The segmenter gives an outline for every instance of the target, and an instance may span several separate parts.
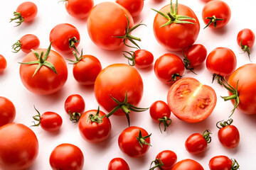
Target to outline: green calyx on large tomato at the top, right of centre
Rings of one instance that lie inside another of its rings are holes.
[[[196,21],[195,18],[191,18],[190,16],[181,16],[178,15],[178,0],[176,0],[176,4],[175,4],[175,9],[172,5],[172,0],[170,3],[171,6],[171,13],[162,13],[161,11],[157,11],[153,8],[151,8],[152,10],[156,11],[157,13],[159,13],[161,16],[164,16],[164,18],[166,18],[168,21],[166,23],[164,23],[164,25],[162,25],[161,27],[164,26],[169,26],[171,23],[190,23],[190,24],[196,24],[190,21],[186,21],[186,20],[192,20],[192,21]]]

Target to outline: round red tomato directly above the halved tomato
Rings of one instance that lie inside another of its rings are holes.
[[[160,56],[154,64],[156,77],[165,84],[174,84],[183,76],[184,64],[180,57],[170,53]]]

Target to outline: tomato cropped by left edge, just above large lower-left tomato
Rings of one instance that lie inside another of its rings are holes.
[[[0,127],[12,123],[16,116],[16,108],[8,98],[0,96]]]

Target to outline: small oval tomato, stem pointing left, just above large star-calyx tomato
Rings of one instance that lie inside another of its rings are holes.
[[[20,50],[23,52],[31,52],[31,49],[36,50],[40,45],[40,41],[36,35],[27,34],[23,35],[20,40],[12,45],[14,52],[19,52]]]

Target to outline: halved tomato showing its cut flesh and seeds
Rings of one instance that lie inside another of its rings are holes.
[[[217,101],[215,91],[197,79],[186,77],[171,86],[167,103],[177,118],[187,123],[198,123],[213,112]]]

